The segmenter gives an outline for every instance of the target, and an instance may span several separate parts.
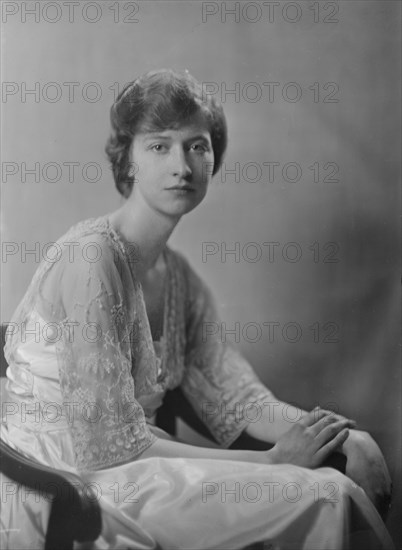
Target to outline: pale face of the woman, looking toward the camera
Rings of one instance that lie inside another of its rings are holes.
[[[131,162],[133,200],[140,194],[150,208],[173,217],[190,212],[205,197],[213,170],[205,121],[195,116],[176,130],[137,133]]]

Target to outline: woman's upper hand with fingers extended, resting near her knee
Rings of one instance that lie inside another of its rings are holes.
[[[274,464],[317,468],[342,446],[355,422],[331,411],[315,408],[294,424],[268,451]],[[271,462],[271,463],[272,463]]]

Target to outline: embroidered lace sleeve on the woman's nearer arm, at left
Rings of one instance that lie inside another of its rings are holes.
[[[122,264],[101,236],[80,239],[80,249],[94,241],[97,260],[78,253],[58,278],[65,312],[57,349],[60,385],[81,470],[135,459],[156,439],[134,397],[133,282],[122,280]]]

